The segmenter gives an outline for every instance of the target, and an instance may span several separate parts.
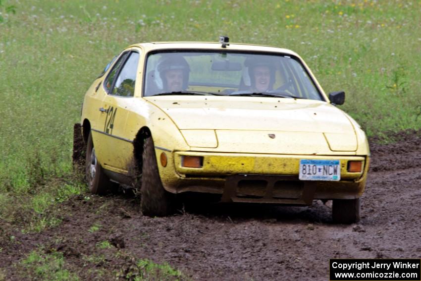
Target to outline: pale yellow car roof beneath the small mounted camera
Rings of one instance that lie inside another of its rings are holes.
[[[153,50],[165,50],[165,49],[194,49],[194,50],[226,50],[226,51],[252,51],[252,52],[271,52],[271,53],[282,53],[291,56],[298,56],[295,52],[277,48],[272,46],[263,46],[263,45],[252,45],[252,44],[239,44],[239,43],[229,43],[225,48],[222,48],[220,43],[216,42],[147,42],[147,43],[138,43],[133,44],[130,47],[141,47],[145,51]]]

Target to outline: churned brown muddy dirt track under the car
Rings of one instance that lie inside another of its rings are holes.
[[[330,202],[205,205],[148,218],[133,196],[77,196],[60,206],[63,221],[57,227],[37,234],[3,230],[15,242],[0,241],[0,267],[7,280],[21,280],[19,260],[42,246],[62,252],[65,268],[81,280],[128,278],[135,260],[150,258],[168,262],[186,280],[325,281],[329,258],[421,258],[419,135],[401,134],[392,145],[371,141],[372,164],[356,225],[333,225]],[[90,232],[94,224],[99,230]],[[105,240],[113,246],[99,248]]]

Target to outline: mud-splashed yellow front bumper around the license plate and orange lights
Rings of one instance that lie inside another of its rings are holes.
[[[157,159],[162,151],[157,149]],[[166,152],[168,153],[168,152]],[[368,156],[274,155],[178,151],[159,167],[161,181],[172,193],[221,194],[225,202],[310,205],[313,199],[359,198],[365,188]],[[182,167],[182,156],[204,157],[202,168]],[[340,181],[298,179],[301,159],[340,160]],[[362,161],[362,172],[348,172],[348,161]]]

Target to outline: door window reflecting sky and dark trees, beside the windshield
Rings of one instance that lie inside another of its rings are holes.
[[[118,74],[114,88],[112,89],[112,95],[133,97],[135,93],[138,62],[139,54],[137,52],[130,53],[129,58],[127,58],[123,68],[121,68],[120,73]]]

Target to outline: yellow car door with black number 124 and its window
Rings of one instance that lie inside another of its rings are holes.
[[[104,98],[99,108],[101,127],[94,138],[98,160],[104,169],[127,173],[133,154],[132,141],[125,138],[127,105],[133,102],[139,51],[128,50],[114,64],[104,80]]]

